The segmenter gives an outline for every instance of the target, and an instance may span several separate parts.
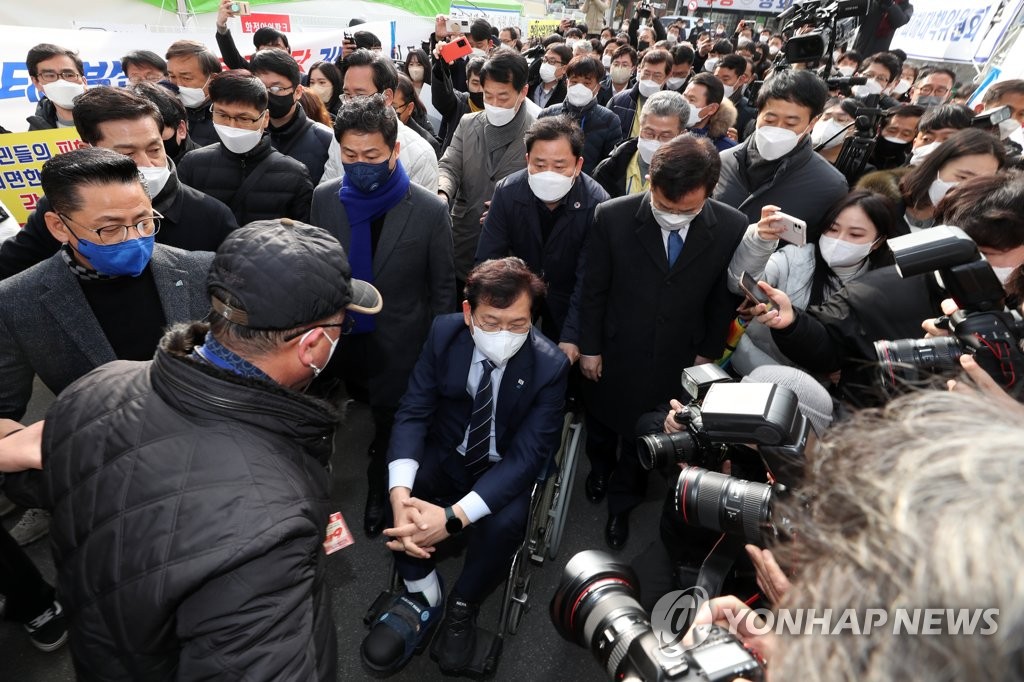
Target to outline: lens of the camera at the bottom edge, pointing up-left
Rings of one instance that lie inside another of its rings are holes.
[[[580,552],[562,571],[551,621],[562,637],[589,648],[613,679],[633,640],[650,632],[638,592],[628,563],[596,550]]]

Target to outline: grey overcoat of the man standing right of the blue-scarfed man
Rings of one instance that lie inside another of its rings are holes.
[[[516,118],[508,124],[517,126],[519,131],[515,134],[515,140],[505,150],[494,175],[487,173],[487,142],[484,137],[487,119],[483,112],[462,117],[452,143],[438,162],[438,189],[447,195],[452,203],[455,268],[460,280],[466,279],[476,258],[483,202],[490,201],[498,180],[526,167],[526,143],[523,135],[534,120],[526,108],[520,106]]]

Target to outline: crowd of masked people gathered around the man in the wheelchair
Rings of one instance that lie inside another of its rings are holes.
[[[40,649],[71,632],[83,679],[334,679],[340,396],[370,406],[362,529],[387,536],[407,588],[362,660],[393,674],[433,637],[463,674],[567,401],[620,551],[647,496],[638,430],[667,413],[678,429],[684,369],[798,368],[822,432],[889,399],[873,343],[922,336],[948,298],[900,276],[889,240],[955,225],[1024,302],[1024,80],[972,110],[971,84],[888,41],[791,62],[810,27],[640,12],[528,40],[438,16],[401,59],[353,26],[336,62],[303,72],[273,29],[244,56],[232,4],[220,55],[135,50],[125,87],[88,83],[74,46],[27,56],[30,129],[85,146],[46,163],[0,246],[0,459],[39,470],[5,481],[5,511],[28,511],[0,528],[0,587]],[[58,397],[23,429],[36,378]],[[468,527],[446,590],[434,548]],[[47,532],[56,589],[22,549]],[[686,554],[669,552],[677,578],[699,566]],[[786,599],[823,599],[808,590]]]

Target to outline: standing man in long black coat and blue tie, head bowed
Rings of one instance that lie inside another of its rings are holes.
[[[681,135],[651,160],[650,191],[598,207],[587,246],[580,366],[588,407],[588,497],[608,495],[605,540],[621,549],[643,501],[636,423],[679,392],[683,369],[721,355],[738,299],[726,287],[746,218],[709,199],[720,160]],[[617,463],[615,445],[621,447]],[[610,476],[610,480],[609,480]]]

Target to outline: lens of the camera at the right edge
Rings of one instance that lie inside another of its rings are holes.
[[[934,339],[876,341],[882,386],[893,391],[901,386],[920,386],[933,375],[952,376],[963,354],[954,336]]]

